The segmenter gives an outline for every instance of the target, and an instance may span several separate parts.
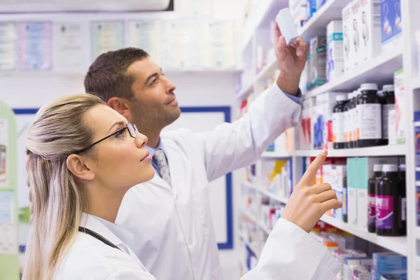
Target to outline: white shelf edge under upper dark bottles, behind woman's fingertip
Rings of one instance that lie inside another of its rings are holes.
[[[295,151],[298,157],[316,157],[321,150]],[[407,145],[392,145],[392,146],[375,146],[367,148],[351,148],[328,150],[328,157],[330,158],[351,158],[351,157],[384,157],[405,155],[407,153]]]

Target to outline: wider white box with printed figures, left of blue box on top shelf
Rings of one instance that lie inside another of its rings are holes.
[[[353,35],[357,38],[358,48],[355,55],[363,64],[381,54],[381,0],[352,1]],[[356,63],[356,66],[358,65]]]

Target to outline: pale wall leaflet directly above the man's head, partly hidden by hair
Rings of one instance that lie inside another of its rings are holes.
[[[162,22],[159,20],[130,20],[129,46],[146,50],[154,62],[161,63],[162,55]]]

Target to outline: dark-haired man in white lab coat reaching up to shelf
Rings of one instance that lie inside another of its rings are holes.
[[[156,279],[223,279],[209,182],[251,165],[300,118],[298,85],[307,45],[302,38],[286,45],[276,28],[274,47],[281,69],[276,83],[255,99],[243,118],[204,133],[181,129],[161,134],[181,113],[176,86],[143,50],[107,52],[90,66],[86,92],[97,92],[148,137],[155,177],[125,195],[116,223],[134,234],[132,249]],[[307,269],[310,279],[319,260],[303,260],[307,263],[302,267],[313,268]]]

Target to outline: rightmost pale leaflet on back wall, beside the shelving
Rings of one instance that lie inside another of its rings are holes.
[[[235,66],[235,34],[231,21],[207,21],[203,24],[204,67]]]

